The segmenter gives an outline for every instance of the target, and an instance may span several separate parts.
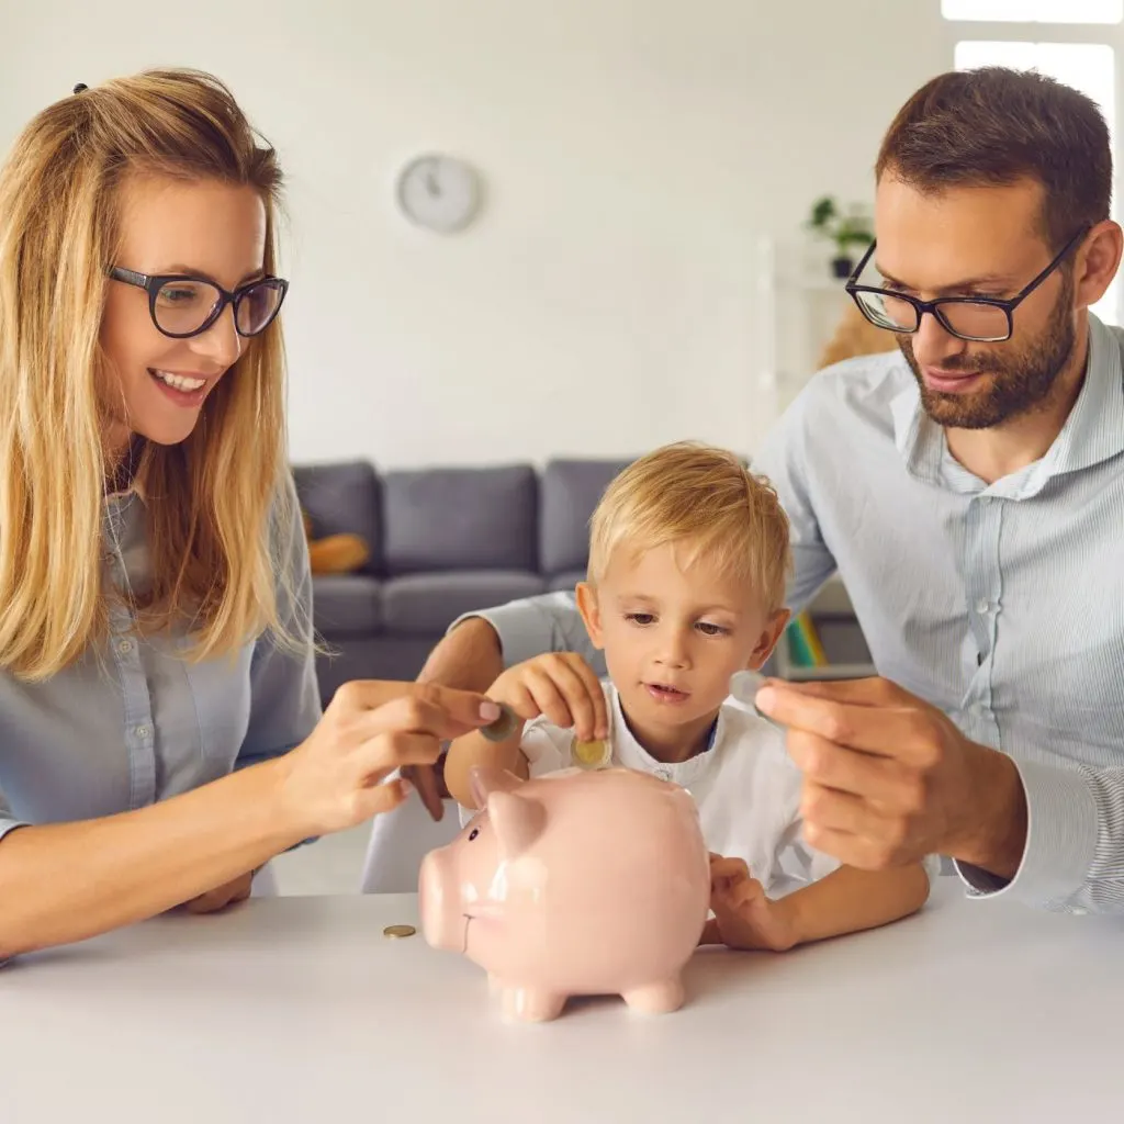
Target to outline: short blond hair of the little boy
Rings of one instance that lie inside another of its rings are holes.
[[[777,492],[733,453],[698,442],[664,445],[634,461],[601,497],[590,523],[589,581],[614,553],[673,544],[689,569],[707,556],[752,584],[769,613],[785,604],[788,518]]]

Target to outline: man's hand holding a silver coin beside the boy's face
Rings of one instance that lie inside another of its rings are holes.
[[[936,707],[885,679],[769,680],[756,706],[788,727],[812,846],[864,870],[946,854],[1014,877],[1026,845],[1014,762]]]

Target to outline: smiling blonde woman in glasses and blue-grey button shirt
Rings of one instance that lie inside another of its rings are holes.
[[[372,682],[320,715],[280,185],[185,71],[76,88],[0,170],[0,958],[238,900],[498,715]]]

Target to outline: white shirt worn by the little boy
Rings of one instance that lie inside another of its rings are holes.
[[[729,703],[718,711],[710,747],[688,761],[665,763],[633,736],[616,688],[605,682],[611,718],[613,763],[652,773],[687,789],[699,809],[710,851],[744,859],[770,897],[818,881],[840,862],[810,847],[800,817],[800,771],[781,731]],[[519,743],[532,777],[571,767],[573,732],[544,717],[527,723]],[[474,812],[461,808],[461,823]]]

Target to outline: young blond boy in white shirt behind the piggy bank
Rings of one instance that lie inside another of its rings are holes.
[[[808,846],[783,735],[726,703],[731,677],[759,669],[788,623],[788,560],[776,493],[734,455],[680,443],[633,463],[593,514],[577,588],[608,682],[570,653],[506,670],[489,697],[526,725],[498,744],[479,733],[452,744],[445,782],[463,818],[473,765],[528,777],[588,761],[591,747],[549,715],[588,714],[604,690],[613,764],[674,781],[698,805],[711,852],[704,943],[781,951],[919,909],[922,865],[861,871]]]

